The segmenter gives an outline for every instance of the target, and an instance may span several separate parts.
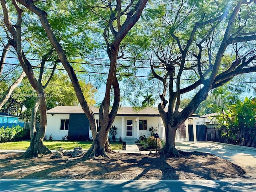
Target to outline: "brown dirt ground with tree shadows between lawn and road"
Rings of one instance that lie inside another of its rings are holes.
[[[1,179],[150,179],[218,180],[244,178],[239,166],[217,156],[186,152],[180,158],[156,155],[109,154],[108,158],[61,159],[53,154],[24,159],[21,153],[0,154]]]

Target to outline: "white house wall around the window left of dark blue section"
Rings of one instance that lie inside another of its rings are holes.
[[[63,136],[68,135],[68,130],[60,130],[60,120],[69,119],[69,114],[47,114],[46,135],[53,136],[53,140],[62,140]]]

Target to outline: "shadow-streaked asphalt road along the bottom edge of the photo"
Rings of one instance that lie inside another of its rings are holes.
[[[0,192],[254,192],[256,179],[0,180]]]

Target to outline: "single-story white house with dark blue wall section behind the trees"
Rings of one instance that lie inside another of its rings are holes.
[[[91,107],[91,109],[98,122],[99,108]],[[193,118],[196,117],[199,116],[194,115]],[[151,126],[158,128],[160,138],[165,135],[165,132],[161,129],[162,119],[158,108],[146,107],[137,111],[133,110],[132,107],[121,107],[117,112],[113,126],[118,128],[117,140],[119,137],[138,139],[142,134],[150,136],[149,128]],[[46,135],[49,136],[51,134],[54,140],[61,140],[67,135],[74,140],[92,137],[89,120],[81,106],[57,106],[48,110]]]

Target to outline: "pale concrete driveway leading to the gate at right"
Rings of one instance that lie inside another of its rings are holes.
[[[214,154],[240,166],[246,171],[245,176],[256,178],[256,148],[216,142],[176,142],[176,148]]]

